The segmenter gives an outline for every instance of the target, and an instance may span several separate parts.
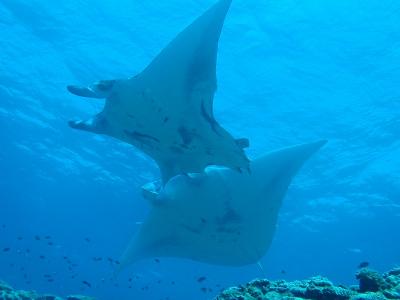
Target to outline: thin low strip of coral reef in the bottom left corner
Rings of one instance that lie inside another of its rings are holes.
[[[68,296],[61,298],[53,295],[39,295],[35,291],[14,290],[5,282],[0,281],[0,300],[94,300],[87,296]]]

